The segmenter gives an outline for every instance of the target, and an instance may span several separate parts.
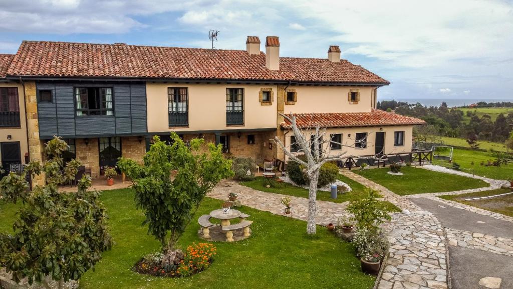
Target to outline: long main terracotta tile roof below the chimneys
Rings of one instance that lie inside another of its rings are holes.
[[[389,83],[347,60],[280,58],[270,70],[264,53],[246,50],[47,41],[22,42],[7,75]]]

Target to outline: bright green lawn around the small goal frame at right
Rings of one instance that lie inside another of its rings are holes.
[[[481,166],[481,161],[486,163],[488,160],[495,160],[495,156],[488,152],[454,149],[452,159],[460,164],[462,168],[470,169],[464,170],[468,173],[472,173],[473,170],[473,173],[484,177],[495,179],[513,178],[513,164],[501,165],[500,167]],[[443,163],[448,165],[446,161],[443,161]]]

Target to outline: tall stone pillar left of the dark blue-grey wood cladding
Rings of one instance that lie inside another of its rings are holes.
[[[37,119],[37,100],[35,82],[25,83],[25,104],[27,106],[27,130],[29,143],[29,157],[31,160],[43,161],[43,141],[39,139],[39,120]],[[32,179],[32,185],[44,185],[45,176],[42,173]]]

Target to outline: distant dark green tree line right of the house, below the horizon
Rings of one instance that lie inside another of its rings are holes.
[[[490,103],[480,102],[483,105]],[[511,102],[501,102],[501,105]],[[508,115],[499,114],[495,121],[487,114],[479,117],[475,112],[467,111],[466,116],[470,118],[468,123],[464,122],[465,114],[461,110],[449,109],[447,103],[442,102],[440,106],[422,105],[421,103],[409,104],[406,102],[397,102],[395,100],[383,100],[378,102],[378,109],[384,111],[394,111],[397,114],[417,117],[425,120],[435,128],[440,136],[473,138],[477,136],[479,140],[505,141],[511,132],[510,124],[513,123],[513,113]],[[489,106],[482,106],[489,107]]]

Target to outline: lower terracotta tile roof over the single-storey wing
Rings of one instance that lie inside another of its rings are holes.
[[[299,127],[320,127],[343,128],[343,127],[373,127],[401,124],[424,124],[422,119],[388,113],[381,110],[371,110],[369,113],[313,113],[294,114]],[[291,116],[290,114],[288,115]],[[282,128],[290,128],[290,122],[285,120],[281,123]]]

